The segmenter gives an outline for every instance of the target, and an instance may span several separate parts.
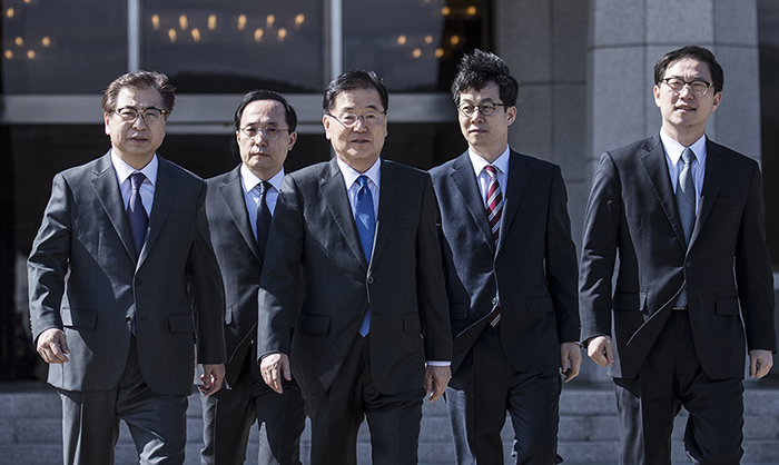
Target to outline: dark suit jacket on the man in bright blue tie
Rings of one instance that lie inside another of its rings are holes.
[[[287,175],[259,291],[258,354],[289,354],[303,389],[325,393],[371,305],[371,367],[379,392],[424,386],[425,360],[450,360],[436,202],[430,176],[382,161],[376,240],[365,261],[336,159]],[[303,267],[307,293],[289,343]]]

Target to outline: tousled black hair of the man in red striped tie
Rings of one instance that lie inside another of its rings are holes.
[[[479,91],[490,82],[497,85],[504,108],[516,106],[520,83],[511,73],[509,66],[495,53],[474,49],[473,52],[466,53],[457,66],[457,76],[452,81],[454,103],[460,105],[460,95],[466,90]]]

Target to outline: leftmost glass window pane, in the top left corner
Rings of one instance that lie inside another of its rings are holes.
[[[99,93],[127,70],[127,4],[2,2],[2,91]]]

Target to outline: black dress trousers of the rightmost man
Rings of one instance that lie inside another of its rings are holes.
[[[684,452],[692,463],[738,465],[743,455],[742,379],[703,373],[688,311],[673,310],[635,378],[614,378],[622,465],[670,465],[681,407],[690,413]]]

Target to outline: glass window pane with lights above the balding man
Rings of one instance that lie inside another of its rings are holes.
[[[322,0],[147,0],[144,69],[178,92],[321,92],[325,83]]]

